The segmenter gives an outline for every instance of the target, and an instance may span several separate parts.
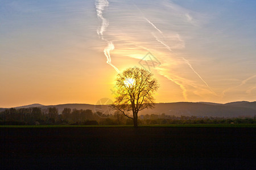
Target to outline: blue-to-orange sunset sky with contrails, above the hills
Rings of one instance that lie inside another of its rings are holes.
[[[114,100],[143,67],[157,103],[256,100],[256,1],[0,0],[0,107]]]

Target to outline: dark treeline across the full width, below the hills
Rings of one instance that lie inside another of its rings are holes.
[[[256,124],[254,118],[220,118],[196,116],[170,116],[166,114],[146,114],[139,116],[139,125],[164,124]],[[0,113],[0,125],[133,125],[133,120],[116,111],[105,115],[90,109],[64,108],[63,112],[55,107],[42,109],[10,108]]]

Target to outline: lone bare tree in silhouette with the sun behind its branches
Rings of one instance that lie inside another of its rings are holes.
[[[115,85],[118,90],[113,109],[121,111],[133,120],[134,127],[138,127],[138,112],[154,108],[153,94],[159,88],[157,80],[147,70],[129,68],[117,75]],[[129,116],[130,111],[133,116]]]

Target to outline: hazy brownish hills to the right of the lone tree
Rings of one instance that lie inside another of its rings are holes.
[[[204,103],[159,103],[155,109],[146,109],[141,114],[171,114],[175,116],[212,116],[212,117],[253,117],[256,114],[256,102],[246,104],[204,104]]]

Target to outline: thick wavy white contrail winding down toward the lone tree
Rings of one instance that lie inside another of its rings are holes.
[[[109,2],[107,0],[96,0],[95,6],[96,6],[97,17],[98,17],[98,19],[101,19],[101,21],[102,21],[101,26],[97,28],[97,34],[98,34],[98,36],[100,36],[100,38],[102,40],[104,40],[108,43],[108,46],[106,46],[106,48],[104,49],[104,54],[105,54],[106,58],[108,59],[106,61],[106,63],[108,63],[110,66],[112,66],[115,69],[115,71],[117,71],[117,73],[119,73],[119,70],[117,69],[117,67],[115,67],[111,63],[111,57],[110,57],[110,51],[114,50],[115,46],[112,41],[108,41],[108,40],[104,39],[104,37],[103,37],[103,33],[106,31],[106,28],[109,26],[109,22],[102,16],[102,11],[104,11],[105,7],[109,6]]]

